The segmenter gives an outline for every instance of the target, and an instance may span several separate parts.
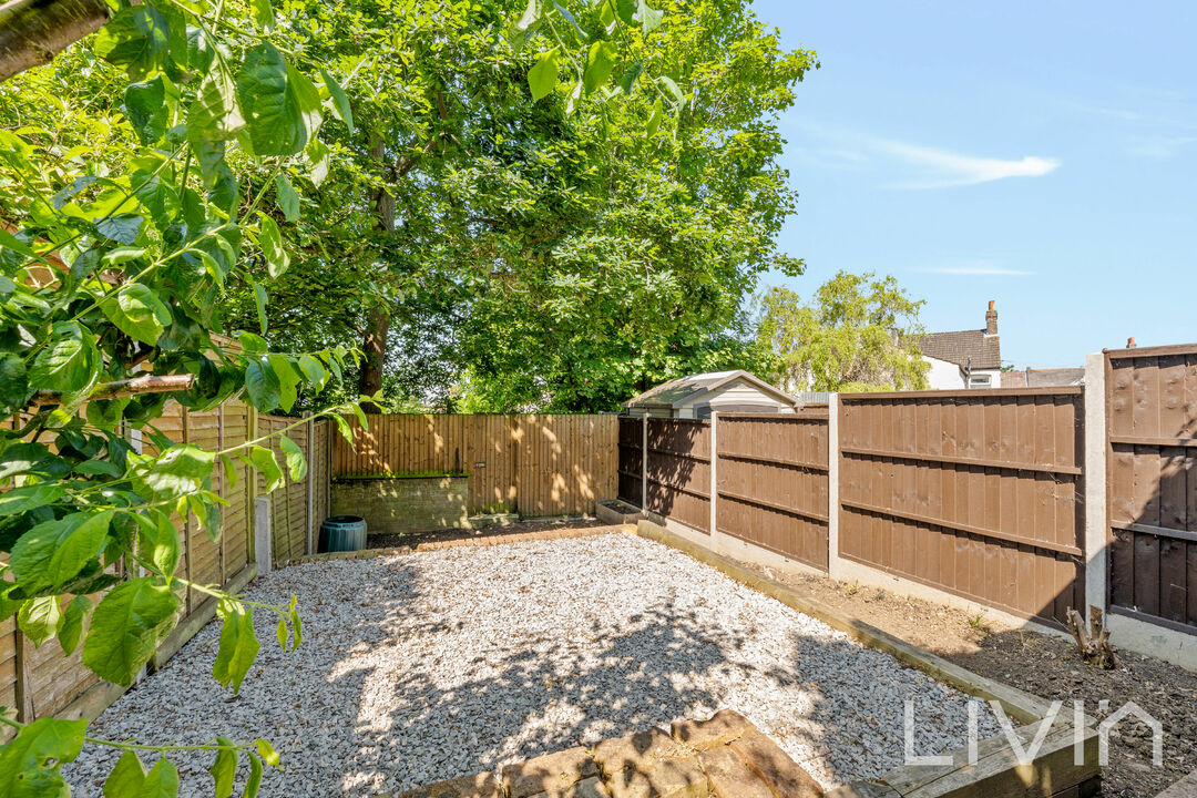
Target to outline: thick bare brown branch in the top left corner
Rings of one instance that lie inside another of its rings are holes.
[[[43,63],[108,22],[104,0],[0,2],[0,83]]]

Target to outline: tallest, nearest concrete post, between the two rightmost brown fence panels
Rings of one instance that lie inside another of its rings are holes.
[[[1084,605],[1105,613],[1110,519],[1106,508],[1106,355],[1084,358]]]

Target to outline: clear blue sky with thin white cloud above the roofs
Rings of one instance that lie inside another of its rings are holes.
[[[931,331],[994,299],[1020,368],[1197,341],[1197,4],[754,8],[822,62],[780,126],[807,273],[767,284],[889,273]]]

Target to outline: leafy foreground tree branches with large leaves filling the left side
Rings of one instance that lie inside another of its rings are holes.
[[[468,7],[493,19],[503,8]],[[646,8],[640,2],[636,13]],[[96,28],[45,69],[20,72]],[[284,648],[302,638],[293,598],[254,604],[181,578],[172,522],[192,517],[219,537],[211,480],[232,458],[268,489],[303,479],[306,464],[287,430],[275,433],[280,463],[263,439],[207,451],[176,444],[154,420],[169,400],[207,410],[243,396],[261,412],[290,412],[300,391],[320,394],[354,360],[342,345],[282,351],[263,337],[268,286],[298,249],[318,249],[329,226],[299,226],[309,185],[344,163],[367,197],[365,212],[348,208],[361,230],[381,226],[385,238],[395,226],[385,224],[389,184],[324,141],[329,127],[352,135],[354,111],[369,118],[371,109],[354,109],[333,73],[304,60],[305,32],[311,28],[288,25],[284,35],[269,0],[18,0],[0,10],[0,416],[11,419],[0,426],[0,620],[16,616],[35,645],[81,645],[83,663],[114,683],[132,683],[174,628],[184,587],[218,599],[224,626],[213,676],[233,690],[257,652],[255,610],[277,615]],[[492,33],[484,26],[478,35]],[[511,68],[527,79],[536,61],[529,54]],[[402,69],[385,83],[391,77],[356,67],[344,75],[350,86],[377,78],[379,95],[419,85]],[[600,90],[602,78],[589,89]],[[382,136],[371,150],[377,169],[401,171]],[[377,261],[375,250],[358,263]],[[233,285],[253,307],[242,327],[225,321]],[[366,422],[356,401],[322,413],[346,435],[344,415]],[[86,596],[95,593],[103,597],[92,605]],[[68,794],[61,766],[84,742],[124,751],[105,796],[177,793],[170,747],[86,737],[85,720],[22,724],[0,713],[0,724],[16,730],[0,747],[0,796]],[[263,765],[279,765],[265,739],[192,748],[213,751],[223,797],[238,761],[248,765],[250,797]],[[148,773],[145,753],[158,755]]]

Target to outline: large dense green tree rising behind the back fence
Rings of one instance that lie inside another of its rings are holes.
[[[305,195],[272,342],[365,349],[382,306],[377,384],[443,410],[612,409],[679,373],[754,367],[743,301],[765,269],[801,269],[773,243],[795,202],[776,118],[814,56],[741,0],[667,5],[687,24],[655,30],[616,5],[626,20],[542,4],[519,32],[492,4],[424,4],[401,36],[370,4],[288,6],[358,128],[321,132],[344,157]],[[508,47],[510,28],[541,54]],[[397,44],[363,59],[346,39]],[[529,69],[546,63],[541,95]]]

